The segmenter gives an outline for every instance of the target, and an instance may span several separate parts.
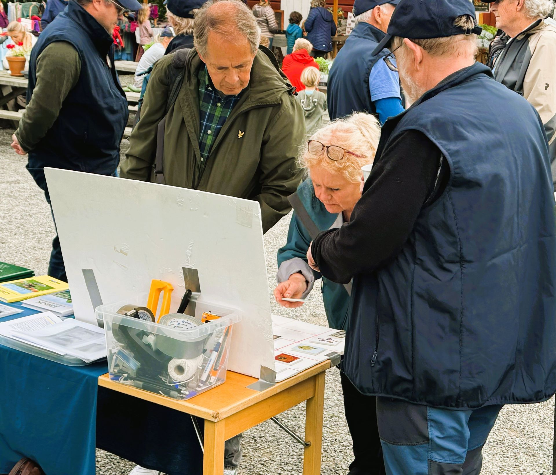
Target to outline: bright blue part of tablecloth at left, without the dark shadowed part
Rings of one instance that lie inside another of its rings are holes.
[[[106,372],[106,361],[70,367],[0,345],[0,473],[25,456],[48,475],[95,475],[98,377]]]

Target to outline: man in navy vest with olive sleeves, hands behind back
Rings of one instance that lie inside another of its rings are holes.
[[[27,169],[50,197],[44,167],[116,173],[127,123],[127,100],[114,67],[112,31],[136,0],[70,0],[33,47],[27,107],[12,148],[29,154]],[[58,236],[51,277],[67,281]]]

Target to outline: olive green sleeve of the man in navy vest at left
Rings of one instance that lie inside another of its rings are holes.
[[[80,73],[81,59],[68,42],[53,42],[39,54],[33,96],[16,131],[24,151],[32,150],[46,136],[58,117],[64,99],[77,84]]]

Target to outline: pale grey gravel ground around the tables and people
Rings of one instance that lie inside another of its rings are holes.
[[[41,275],[47,270],[54,227],[42,192],[24,169],[26,158],[9,148],[11,134],[0,129],[0,261],[21,264]],[[286,217],[265,236],[270,290],[275,282],[276,251],[285,242],[288,224],[289,217]],[[326,324],[319,292],[312,293],[302,311],[284,309],[272,301],[272,312]],[[542,404],[505,407],[484,450],[483,475],[549,475],[553,415],[554,399]],[[281,419],[302,434],[304,405],[285,412]],[[353,456],[350,442],[339,373],[331,369],[326,375],[322,474],[347,473]],[[247,431],[243,447],[241,475],[302,473],[302,447],[271,422]],[[132,462],[97,451],[97,474],[125,475],[133,466]]]

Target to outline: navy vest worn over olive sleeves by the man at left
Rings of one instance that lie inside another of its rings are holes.
[[[112,37],[85,9],[69,2],[33,47],[27,102],[37,81],[37,58],[54,41],[75,47],[81,74],[54,124],[29,152],[28,167],[112,174],[120,161],[120,142],[128,117],[126,96],[114,67]]]

